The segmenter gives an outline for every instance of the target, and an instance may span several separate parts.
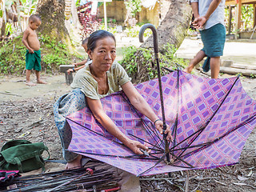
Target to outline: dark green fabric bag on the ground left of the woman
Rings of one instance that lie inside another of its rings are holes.
[[[42,152],[46,150],[48,158],[50,154],[43,142],[31,143],[26,140],[12,140],[2,146],[0,152],[0,170],[19,170],[21,173],[30,170],[45,170],[45,160]]]

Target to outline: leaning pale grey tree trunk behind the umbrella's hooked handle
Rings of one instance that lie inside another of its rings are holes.
[[[178,48],[190,26],[192,10],[187,0],[170,0],[170,8],[166,17],[158,26],[159,51],[164,53],[164,46],[169,42]],[[152,35],[142,44],[141,47],[153,47]]]

